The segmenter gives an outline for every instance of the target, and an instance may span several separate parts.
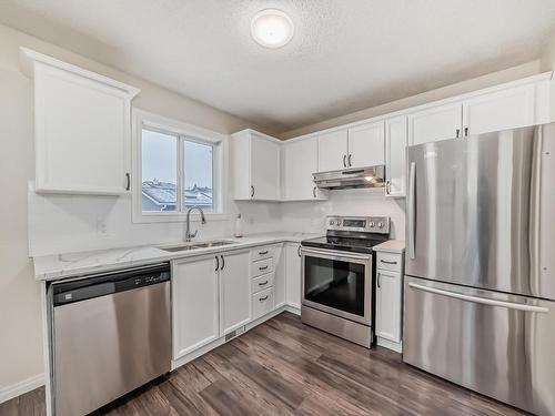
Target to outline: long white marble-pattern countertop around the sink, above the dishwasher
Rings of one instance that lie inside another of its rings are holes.
[[[198,248],[182,252],[167,252],[159,247],[184,244],[175,242],[173,244],[160,244],[138,247],[111,248],[92,252],[52,254],[33,257],[34,277],[37,281],[54,281],[65,277],[81,276],[85,274],[102,273],[168,262],[174,258],[200,256],[210,253],[220,253],[231,250],[254,247],[264,244],[276,244],[284,242],[300,243],[301,240],[317,237],[319,234],[274,232],[263,234],[250,234],[241,239],[223,237],[214,240],[233,241],[235,244]],[[202,243],[193,242],[193,243]]]

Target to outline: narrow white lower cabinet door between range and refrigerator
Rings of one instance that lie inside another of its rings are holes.
[[[401,288],[400,273],[376,272],[376,335],[401,342]]]

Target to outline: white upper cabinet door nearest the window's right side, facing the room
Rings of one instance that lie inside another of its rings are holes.
[[[278,201],[280,189],[280,144],[251,133],[251,199]]]

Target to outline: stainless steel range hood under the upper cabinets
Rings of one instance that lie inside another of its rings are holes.
[[[317,187],[324,190],[345,190],[353,187],[383,187],[385,185],[385,166],[345,169],[333,172],[312,174]]]

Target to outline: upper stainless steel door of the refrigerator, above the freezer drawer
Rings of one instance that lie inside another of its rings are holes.
[[[555,300],[555,124],[411,146],[406,274]]]

